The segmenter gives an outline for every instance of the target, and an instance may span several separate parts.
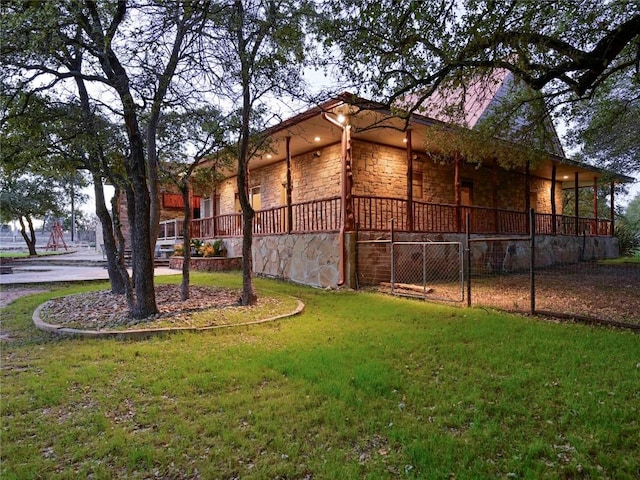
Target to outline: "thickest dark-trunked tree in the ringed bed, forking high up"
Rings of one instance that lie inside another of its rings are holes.
[[[91,82],[96,88],[94,104],[103,104],[115,114],[126,132],[122,189],[131,227],[135,296],[130,296],[130,313],[134,318],[157,312],[155,139],[167,102],[187,102],[190,95],[185,92],[197,91],[187,60],[207,12],[201,6],[134,0],[3,3],[2,30],[8,35],[2,56],[3,64],[11,67],[5,75],[24,91],[54,88],[73,79]],[[86,63],[78,64],[79,58]],[[178,81],[181,74],[182,83]],[[180,83],[190,89],[181,90]]]

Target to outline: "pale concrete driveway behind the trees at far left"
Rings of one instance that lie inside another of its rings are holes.
[[[88,249],[46,257],[15,259],[10,264],[13,273],[0,275],[0,285],[108,280],[109,275],[104,265],[102,254]],[[155,276],[178,274],[179,270],[167,267],[155,269]]]

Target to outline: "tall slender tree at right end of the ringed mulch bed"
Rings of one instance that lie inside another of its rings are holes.
[[[208,24],[208,70],[220,85],[219,94],[237,105],[233,127],[238,173],[238,199],[243,214],[243,305],[257,301],[253,287],[253,218],[249,199],[249,160],[268,148],[256,132],[266,126],[269,100],[299,95],[306,60],[306,21],[313,5],[305,0],[234,0],[221,3]],[[266,121],[265,121],[266,120]]]

